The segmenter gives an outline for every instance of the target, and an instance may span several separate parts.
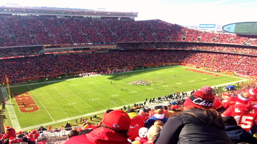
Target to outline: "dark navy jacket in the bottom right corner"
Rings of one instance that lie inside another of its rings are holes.
[[[257,140],[249,132],[238,125],[225,126],[225,131],[228,137],[231,139],[232,143],[257,143]]]

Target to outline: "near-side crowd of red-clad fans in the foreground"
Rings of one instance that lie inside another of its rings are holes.
[[[70,121],[64,128],[49,129],[40,127],[26,132],[16,132],[6,127],[6,133],[0,135],[2,143],[27,142],[46,143],[43,131],[69,131],[65,144],[163,144],[163,143],[257,143],[257,82],[242,83],[242,88],[224,92],[222,99],[216,102],[217,90],[204,86],[194,90],[180,104],[155,106],[140,109],[138,113],[126,107],[121,110],[108,109],[99,124],[93,124],[80,118],[81,127],[72,129]],[[233,94],[233,95],[232,95]],[[173,95],[173,94],[172,94]],[[170,96],[172,96],[170,95]],[[175,95],[175,94],[174,94]],[[184,96],[185,93],[182,94]],[[166,96],[169,97],[170,96]],[[177,93],[180,96],[180,93]],[[164,99],[166,98],[164,97]],[[157,98],[157,99],[162,99]],[[240,111],[234,111],[239,109]],[[95,115],[95,118],[100,119]],[[247,117],[247,119],[245,119]],[[252,118],[250,118],[252,117]],[[92,117],[90,117],[92,120]],[[77,119],[76,119],[76,123]]]

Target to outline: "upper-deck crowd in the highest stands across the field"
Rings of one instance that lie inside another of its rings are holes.
[[[256,37],[202,32],[154,20],[0,16],[0,46],[94,42],[187,41],[244,44]],[[185,37],[185,39],[182,39]]]

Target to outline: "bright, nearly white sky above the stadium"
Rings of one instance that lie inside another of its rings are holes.
[[[138,12],[135,20],[161,19],[184,26],[255,22],[256,0],[1,0],[0,5],[48,6]]]

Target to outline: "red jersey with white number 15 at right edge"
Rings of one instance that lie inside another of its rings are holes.
[[[250,104],[243,105],[237,102],[224,111],[222,116],[233,116],[237,124],[249,132],[253,124],[257,123],[257,108]]]

